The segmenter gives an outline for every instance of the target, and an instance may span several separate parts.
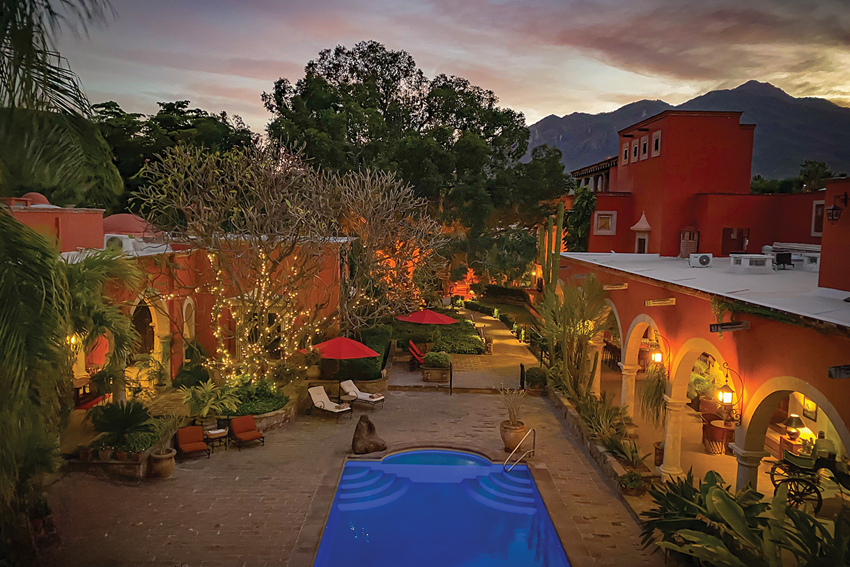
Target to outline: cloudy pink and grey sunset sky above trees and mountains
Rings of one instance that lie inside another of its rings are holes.
[[[269,120],[260,94],[323,48],[376,39],[460,75],[527,122],[638,99],[678,104],[750,79],[850,105],[846,0],[112,0],[59,49],[93,102],[189,99]]]

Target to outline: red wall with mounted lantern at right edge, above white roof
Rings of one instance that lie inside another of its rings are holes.
[[[836,201],[837,196],[844,195],[850,196],[850,178],[831,179],[826,184],[825,206],[836,205],[843,210],[838,222],[824,220],[819,286],[850,292],[850,202],[844,205]]]

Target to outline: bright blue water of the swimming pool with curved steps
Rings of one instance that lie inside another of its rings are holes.
[[[461,451],[350,462],[315,567],[569,567],[524,465]]]

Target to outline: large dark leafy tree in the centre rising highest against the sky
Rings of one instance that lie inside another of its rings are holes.
[[[263,94],[274,115],[269,139],[303,146],[334,171],[397,173],[451,228],[457,261],[485,276],[517,271],[491,259],[504,231],[536,224],[548,213],[540,203],[570,188],[558,150],[540,147],[519,161],[529,138],[521,113],[462,77],[429,80],[410,54],[374,41],[326,49],[304,72]],[[534,258],[525,244],[513,249],[521,268]]]

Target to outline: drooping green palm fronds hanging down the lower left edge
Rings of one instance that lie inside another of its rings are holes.
[[[67,305],[59,255],[0,211],[0,535],[22,549],[31,481],[54,468],[71,389]]]

